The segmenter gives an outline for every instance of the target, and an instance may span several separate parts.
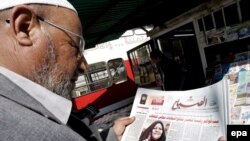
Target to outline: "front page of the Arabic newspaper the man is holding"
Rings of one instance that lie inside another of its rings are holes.
[[[131,111],[136,120],[122,141],[218,141],[226,134],[225,80],[188,91],[138,88]]]

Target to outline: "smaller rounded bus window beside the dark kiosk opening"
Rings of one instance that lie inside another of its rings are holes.
[[[109,60],[108,69],[113,83],[120,84],[127,81],[127,71],[122,58]]]

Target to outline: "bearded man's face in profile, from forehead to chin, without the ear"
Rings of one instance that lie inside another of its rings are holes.
[[[65,20],[62,15],[70,19]],[[81,33],[80,21],[71,10],[60,10],[58,18],[55,16],[48,20],[74,33]],[[42,61],[34,67],[34,81],[63,97],[70,98],[78,67],[83,63],[83,57],[76,47],[80,39],[46,23],[43,23],[43,26],[47,42],[42,51]]]

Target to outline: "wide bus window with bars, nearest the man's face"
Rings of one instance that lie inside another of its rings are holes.
[[[111,76],[108,72],[106,62],[102,61],[89,64],[88,70],[78,77],[72,97],[76,98],[100,89],[108,88],[111,84]]]

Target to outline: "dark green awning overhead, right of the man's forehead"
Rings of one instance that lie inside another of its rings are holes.
[[[125,31],[164,22],[209,0],[69,0],[79,13],[86,49]]]

